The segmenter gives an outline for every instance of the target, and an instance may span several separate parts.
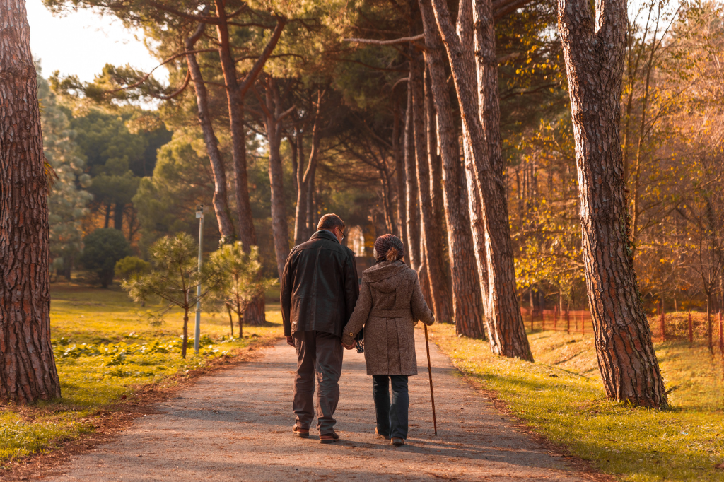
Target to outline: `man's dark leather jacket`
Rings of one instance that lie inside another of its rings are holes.
[[[329,231],[296,246],[282,275],[284,334],[324,331],[342,336],[359,296],[355,255]]]

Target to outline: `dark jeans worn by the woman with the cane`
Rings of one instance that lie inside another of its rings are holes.
[[[392,382],[392,403],[390,403]],[[407,375],[373,375],[372,396],[377,412],[377,431],[380,435],[407,439],[408,395]]]

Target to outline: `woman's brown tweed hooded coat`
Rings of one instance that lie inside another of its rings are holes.
[[[417,321],[435,321],[427,307],[417,273],[402,261],[377,263],[362,274],[355,310],[342,329],[342,343],[364,326],[364,358],[368,375],[417,375]]]

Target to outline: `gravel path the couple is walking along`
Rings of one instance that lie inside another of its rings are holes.
[[[410,378],[408,445],[374,435],[371,378],[363,355],[345,350],[337,408],[341,441],[292,435],[294,350],[284,342],[256,361],[198,380],[159,413],[139,418],[117,439],[72,457],[51,481],[587,481],[549,454],[460,379],[432,350],[438,436],[432,430],[425,342]]]

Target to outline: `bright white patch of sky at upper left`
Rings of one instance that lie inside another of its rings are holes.
[[[106,63],[131,64],[146,72],[159,64],[143,45],[143,33],[126,30],[113,17],[88,10],[54,16],[42,0],[27,0],[26,4],[30,50],[41,60],[43,77],[59,70],[62,75],[90,81]],[[166,74],[163,68],[153,72],[159,80],[165,80]]]

